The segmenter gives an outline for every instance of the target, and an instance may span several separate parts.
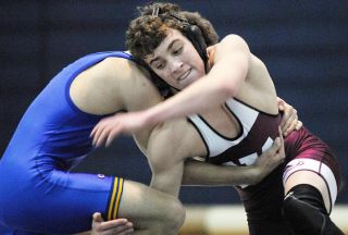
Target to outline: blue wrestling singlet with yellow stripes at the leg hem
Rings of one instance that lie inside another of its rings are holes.
[[[90,230],[94,212],[117,217],[123,178],[70,173],[92,150],[89,134],[102,115],[70,97],[74,78],[109,57],[86,55],[62,70],[22,118],[0,161],[0,234],[72,234]]]

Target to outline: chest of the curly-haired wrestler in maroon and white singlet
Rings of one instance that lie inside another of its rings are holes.
[[[207,146],[207,161],[252,164],[278,135],[281,115],[263,113],[235,100],[229,100],[226,107],[227,112],[220,112],[217,120],[210,113],[190,118]]]

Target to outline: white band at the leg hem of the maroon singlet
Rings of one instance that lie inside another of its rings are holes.
[[[337,182],[332,170],[325,163],[314,159],[294,159],[286,164],[286,170],[283,173],[283,184],[285,185],[288,177],[298,171],[315,172],[325,181],[330,194],[331,210],[337,197]]]

